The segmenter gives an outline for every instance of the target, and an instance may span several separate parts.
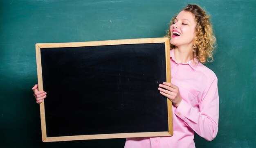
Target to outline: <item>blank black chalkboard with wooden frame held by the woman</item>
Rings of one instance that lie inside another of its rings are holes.
[[[171,136],[169,39],[36,44],[43,141]]]

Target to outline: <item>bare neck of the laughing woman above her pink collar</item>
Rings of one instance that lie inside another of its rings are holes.
[[[193,59],[193,49],[192,48],[182,48],[175,46],[174,48],[175,60],[179,63],[188,63]]]

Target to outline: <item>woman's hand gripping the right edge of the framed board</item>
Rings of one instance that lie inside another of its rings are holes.
[[[172,83],[164,82],[163,84],[159,84],[158,90],[160,91],[160,94],[169,98],[173,102],[173,105],[176,107],[179,106],[182,100],[180,97],[179,87],[173,85]]]

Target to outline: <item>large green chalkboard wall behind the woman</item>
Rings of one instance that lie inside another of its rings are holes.
[[[171,17],[197,3],[211,14],[218,49],[208,63],[218,76],[216,139],[197,148],[256,146],[255,0],[0,0],[0,147],[122,148],[125,139],[43,143],[36,43],[162,37]]]

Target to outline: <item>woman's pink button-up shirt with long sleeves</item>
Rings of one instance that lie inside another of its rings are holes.
[[[125,148],[195,148],[194,131],[207,140],[218,132],[217,77],[197,60],[175,61],[171,55],[171,81],[179,87],[182,101],[173,109],[173,136],[127,138]]]

